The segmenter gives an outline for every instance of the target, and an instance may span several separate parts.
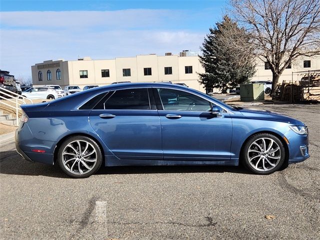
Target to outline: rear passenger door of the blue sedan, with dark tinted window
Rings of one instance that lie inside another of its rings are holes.
[[[160,119],[149,92],[151,88],[109,92],[90,112],[93,130],[120,159],[163,159]]]

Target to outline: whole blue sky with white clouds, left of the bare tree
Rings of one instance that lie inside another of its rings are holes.
[[[198,50],[226,0],[1,0],[0,68],[78,56],[108,59]]]

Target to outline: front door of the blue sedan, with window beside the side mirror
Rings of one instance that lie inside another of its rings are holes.
[[[171,88],[153,90],[162,129],[164,160],[229,160],[229,113],[213,114],[212,102]]]

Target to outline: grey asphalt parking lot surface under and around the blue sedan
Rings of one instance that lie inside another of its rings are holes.
[[[2,147],[0,237],[318,239],[320,104],[254,108],[304,121],[311,157],[265,176],[242,167],[155,166],[71,179],[57,166],[22,160],[14,144]]]

